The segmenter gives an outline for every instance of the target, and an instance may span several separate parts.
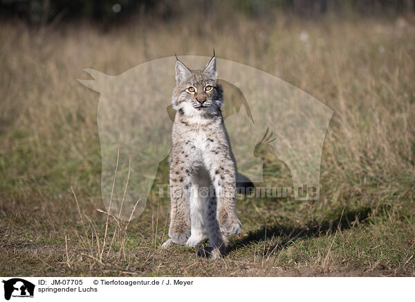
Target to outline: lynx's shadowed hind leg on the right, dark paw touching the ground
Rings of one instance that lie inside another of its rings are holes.
[[[205,204],[206,224],[209,232],[209,247],[203,247],[197,251],[196,255],[206,258],[221,258],[226,252],[228,238],[221,233],[219,222],[216,218],[216,198],[210,198],[210,202]]]

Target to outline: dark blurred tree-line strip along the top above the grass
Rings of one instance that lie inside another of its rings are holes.
[[[234,15],[262,19],[273,17],[276,12],[302,18],[355,14],[393,16],[414,12],[414,4],[413,0],[2,0],[1,13],[3,17],[12,15],[31,24],[48,24],[57,19],[87,19],[109,26],[149,16],[167,21],[195,14],[217,20]]]

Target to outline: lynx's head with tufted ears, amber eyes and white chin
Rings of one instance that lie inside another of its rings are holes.
[[[222,86],[216,72],[216,57],[203,69],[190,70],[177,59],[173,108],[186,116],[216,115],[223,106]]]

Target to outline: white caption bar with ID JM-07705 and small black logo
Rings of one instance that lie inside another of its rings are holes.
[[[10,301],[409,301],[414,278],[0,277]],[[409,298],[409,300],[408,300]],[[127,300],[124,300],[127,301]]]

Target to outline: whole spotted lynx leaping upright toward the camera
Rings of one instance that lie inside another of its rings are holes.
[[[190,70],[176,57],[176,110],[170,152],[172,243],[196,247],[209,238],[210,247],[198,256],[221,257],[230,234],[239,233],[237,166],[223,123],[223,89],[216,72],[216,57],[203,69]]]

